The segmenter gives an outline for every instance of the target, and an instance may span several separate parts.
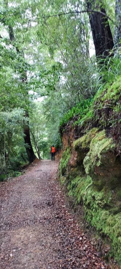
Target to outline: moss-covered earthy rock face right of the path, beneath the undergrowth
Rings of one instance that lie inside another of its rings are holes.
[[[83,204],[86,220],[109,238],[110,255],[121,265],[121,160],[116,143],[106,128],[100,127],[85,131],[77,140],[69,136],[68,132],[63,139],[61,183],[76,203]]]

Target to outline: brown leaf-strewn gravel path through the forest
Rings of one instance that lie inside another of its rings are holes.
[[[0,184],[0,268],[109,268],[69,213],[58,162],[34,162]]]

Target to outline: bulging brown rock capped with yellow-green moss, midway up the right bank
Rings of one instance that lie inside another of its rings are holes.
[[[99,189],[107,184],[114,189],[117,184],[121,184],[121,162],[114,149],[113,140],[106,137],[103,130],[91,140],[90,150],[83,161],[86,174],[92,177],[94,185]]]

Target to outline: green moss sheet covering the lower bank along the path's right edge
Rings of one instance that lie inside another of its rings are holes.
[[[100,234],[110,238],[111,255],[121,264],[121,208],[118,213],[111,213],[114,208],[112,192],[105,188],[97,191],[90,176],[78,175],[68,183],[68,195],[75,197],[76,203],[83,201],[86,220]]]

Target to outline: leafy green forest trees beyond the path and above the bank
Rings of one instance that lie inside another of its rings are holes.
[[[80,125],[95,94],[120,75],[121,15],[120,1],[115,15],[115,1],[108,0],[4,0],[0,5],[4,179],[36,157],[49,158],[52,143],[61,149],[59,128],[74,116]]]

